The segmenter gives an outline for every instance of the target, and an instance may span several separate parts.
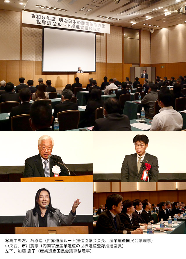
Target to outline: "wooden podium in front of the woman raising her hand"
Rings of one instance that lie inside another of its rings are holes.
[[[15,228],[15,234],[88,234],[88,226]]]

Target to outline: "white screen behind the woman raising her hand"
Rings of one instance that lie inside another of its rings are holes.
[[[27,210],[35,205],[35,194],[41,189],[49,190],[52,207],[60,209],[60,212],[68,215],[77,198],[81,204],[77,208],[77,215],[92,215],[92,182],[4,182],[0,184],[2,199],[0,216],[23,216]],[[11,205],[8,201],[12,201]]]

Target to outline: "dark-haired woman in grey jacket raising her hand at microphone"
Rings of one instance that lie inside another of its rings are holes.
[[[76,217],[76,208],[80,203],[79,199],[74,201],[71,212],[65,216],[59,209],[52,207],[50,192],[45,188],[39,189],[35,195],[35,207],[26,212],[23,227],[70,225]]]

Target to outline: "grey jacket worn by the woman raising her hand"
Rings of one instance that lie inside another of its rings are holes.
[[[56,209],[56,208],[55,208]],[[65,216],[60,212],[59,209],[56,209],[57,214],[59,215],[60,219],[62,219],[67,225],[71,225],[71,223],[74,221],[75,216],[72,216],[71,212],[69,213],[68,216]],[[47,227],[58,227],[59,226],[59,221],[58,221],[58,215],[54,212],[53,217],[50,217],[51,214],[47,214]],[[33,209],[32,210],[27,210],[26,212],[26,217],[24,218],[23,221],[23,226],[22,227],[39,227],[39,219],[38,219],[38,214],[36,212],[36,216],[33,215]],[[60,220],[61,225],[65,225],[63,221]]]

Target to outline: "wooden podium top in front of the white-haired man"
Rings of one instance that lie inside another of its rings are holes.
[[[26,177],[20,178],[20,182],[93,182],[93,175]]]

